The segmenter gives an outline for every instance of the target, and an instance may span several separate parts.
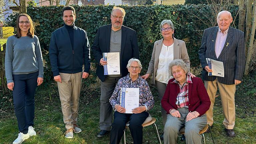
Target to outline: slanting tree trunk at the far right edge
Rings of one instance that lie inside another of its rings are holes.
[[[256,3],[253,4],[253,7],[256,6]],[[253,17],[253,23],[252,23],[252,29],[251,29],[251,35],[250,35],[250,42],[249,42],[249,46],[248,46],[248,50],[247,50],[247,56],[246,56],[246,63],[245,63],[245,70],[244,70],[244,74],[247,75],[248,71],[249,71],[249,64],[251,62],[251,56],[254,52],[254,48],[253,48],[253,40],[254,40],[254,34],[255,34],[255,28],[256,28],[256,9],[254,8],[254,17]]]

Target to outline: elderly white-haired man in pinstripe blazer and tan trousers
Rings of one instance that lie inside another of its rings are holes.
[[[199,58],[202,65],[202,78],[211,100],[210,109],[206,112],[207,123],[213,124],[213,105],[219,88],[223,107],[223,125],[228,136],[234,137],[235,125],[235,91],[236,85],[242,81],[245,68],[244,33],[230,27],[233,18],[228,11],[221,11],[217,16],[217,27],[204,30]],[[206,58],[222,61],[224,76],[208,76],[209,69]]]

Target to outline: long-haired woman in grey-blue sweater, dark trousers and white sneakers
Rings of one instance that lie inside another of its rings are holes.
[[[43,83],[43,58],[34,22],[27,14],[16,20],[17,34],[6,44],[5,75],[7,87],[13,91],[19,135],[13,144],[20,144],[36,135],[34,126],[35,90]]]

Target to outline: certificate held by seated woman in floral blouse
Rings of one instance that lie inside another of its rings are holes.
[[[139,88],[121,88],[120,105],[125,108],[125,113],[139,107]]]

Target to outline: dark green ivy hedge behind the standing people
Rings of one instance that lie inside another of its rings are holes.
[[[87,5],[74,6],[76,9],[76,26],[87,31],[90,45],[93,44],[97,29],[100,26],[110,24],[111,5]],[[150,5],[150,6],[121,6],[126,11],[123,25],[137,32],[140,60],[143,71],[148,67],[154,42],[161,39],[159,25],[162,20],[170,19],[175,26],[175,37],[186,42],[191,65],[198,66],[198,49],[201,43],[203,30],[210,25],[209,19],[215,19],[212,15],[211,5]],[[63,6],[27,7],[27,13],[38,25],[36,35],[39,37],[43,58],[46,61],[44,67],[44,83],[48,87],[52,82],[52,73],[48,55],[51,34],[54,30],[63,26]],[[233,16],[238,11],[237,6],[230,6]],[[9,24],[15,27],[17,15],[9,17]],[[236,22],[237,23],[237,22]],[[92,70],[85,85],[95,83],[95,60],[91,55]]]

